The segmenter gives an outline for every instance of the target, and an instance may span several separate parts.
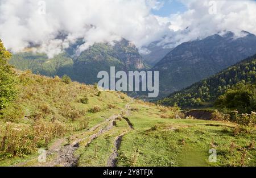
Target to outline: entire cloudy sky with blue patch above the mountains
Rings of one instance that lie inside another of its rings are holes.
[[[38,46],[49,57],[84,39],[126,38],[138,48],[176,45],[222,31],[256,34],[256,2],[246,0],[0,0],[0,38],[12,52]]]

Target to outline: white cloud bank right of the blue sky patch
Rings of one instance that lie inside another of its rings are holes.
[[[174,47],[222,31],[233,31],[237,36],[243,35],[242,30],[256,34],[255,1],[180,1],[187,5],[188,10],[165,19],[171,23],[170,28],[175,32],[170,32],[162,44],[171,43],[170,47]]]

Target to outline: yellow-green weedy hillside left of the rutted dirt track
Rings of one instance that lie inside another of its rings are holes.
[[[48,78],[18,72],[18,97],[2,109],[0,119],[0,159],[32,154],[55,138],[88,126],[85,109],[77,108],[77,98],[96,94],[92,86],[65,84],[59,77]]]

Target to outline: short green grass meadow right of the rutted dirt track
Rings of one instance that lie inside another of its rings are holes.
[[[119,166],[255,165],[255,149],[242,151],[255,141],[255,134],[233,136],[230,123],[160,119],[155,118],[156,110],[150,112],[140,107],[129,117],[135,129],[123,137]],[[217,163],[208,162],[211,148],[217,150]]]

